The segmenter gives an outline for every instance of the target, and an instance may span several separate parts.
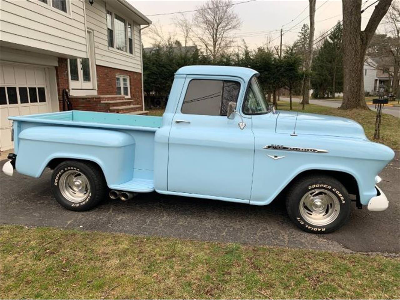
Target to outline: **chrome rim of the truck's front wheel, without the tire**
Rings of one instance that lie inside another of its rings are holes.
[[[303,196],[300,200],[299,209],[306,222],[315,226],[325,226],[339,216],[340,203],[332,192],[315,189]]]

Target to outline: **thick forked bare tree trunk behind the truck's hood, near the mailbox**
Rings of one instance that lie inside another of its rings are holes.
[[[361,0],[342,0],[343,11],[343,102],[340,109],[368,109],[364,96],[364,56],[369,42],[392,0],[376,4],[368,24],[361,28]]]

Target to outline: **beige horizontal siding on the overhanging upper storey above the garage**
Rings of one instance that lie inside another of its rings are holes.
[[[87,57],[83,5],[83,0],[71,0],[70,14],[65,14],[36,0],[1,0],[1,40],[63,57]]]

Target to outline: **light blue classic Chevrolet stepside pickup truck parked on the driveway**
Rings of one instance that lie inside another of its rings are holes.
[[[176,74],[162,117],[85,111],[10,117],[15,154],[3,171],[40,177],[70,210],[136,193],[253,205],[286,201],[302,230],[327,233],[351,202],[380,211],[375,184],[394,152],[369,141],[360,124],[278,111],[248,68],[187,66]],[[280,196],[280,197],[278,197]]]

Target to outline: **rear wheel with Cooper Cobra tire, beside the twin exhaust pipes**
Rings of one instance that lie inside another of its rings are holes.
[[[65,208],[84,211],[104,198],[106,182],[96,164],[68,160],[54,169],[52,191],[57,202]]]

